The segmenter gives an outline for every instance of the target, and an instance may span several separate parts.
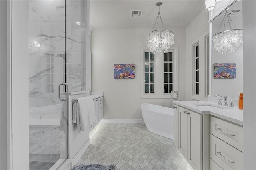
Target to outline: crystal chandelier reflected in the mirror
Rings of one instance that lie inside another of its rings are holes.
[[[226,19],[228,20],[230,30],[225,31]],[[222,26],[223,21],[223,32],[219,32],[219,28],[217,34],[212,36],[212,48],[219,54],[232,53],[236,51],[243,43],[243,29],[235,29],[235,26],[227,11],[220,24],[220,27]],[[232,23],[234,29],[231,28],[230,22]]]

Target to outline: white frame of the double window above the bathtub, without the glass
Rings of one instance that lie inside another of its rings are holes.
[[[141,47],[141,83],[140,83],[140,97],[141,98],[170,98],[168,93],[164,94],[164,55],[154,55],[154,94],[144,93],[144,52],[148,52],[147,47]],[[178,90],[178,47],[170,47],[168,52],[172,52],[173,61],[173,90]]]

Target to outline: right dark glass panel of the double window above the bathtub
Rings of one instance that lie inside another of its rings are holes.
[[[164,53],[164,94],[173,90],[173,52]]]

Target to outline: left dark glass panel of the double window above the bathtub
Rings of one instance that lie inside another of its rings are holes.
[[[154,94],[154,54],[144,52],[144,94]]]

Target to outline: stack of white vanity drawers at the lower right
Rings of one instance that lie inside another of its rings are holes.
[[[243,168],[243,128],[240,125],[211,117],[211,169]]]

